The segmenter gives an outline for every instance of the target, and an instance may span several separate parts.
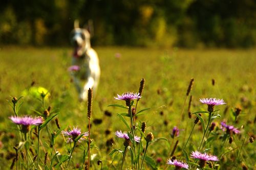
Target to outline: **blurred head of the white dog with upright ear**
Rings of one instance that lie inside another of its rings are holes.
[[[75,20],[74,30],[70,33],[71,44],[74,46],[73,57],[80,58],[89,48],[91,48],[90,38],[89,29],[79,28],[79,21]]]

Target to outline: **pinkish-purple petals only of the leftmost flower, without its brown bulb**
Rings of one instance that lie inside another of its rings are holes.
[[[28,115],[24,117],[11,116],[9,118],[12,120],[13,123],[23,126],[42,124],[42,120],[40,118],[32,118],[32,116]]]

